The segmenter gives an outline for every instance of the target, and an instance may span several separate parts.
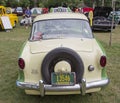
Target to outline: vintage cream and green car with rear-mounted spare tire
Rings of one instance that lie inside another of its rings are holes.
[[[18,65],[16,84],[32,95],[84,95],[109,83],[106,54],[80,13],[37,16]]]

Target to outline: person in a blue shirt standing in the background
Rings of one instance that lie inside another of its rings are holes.
[[[25,26],[26,29],[28,28],[28,26],[30,26],[32,23],[32,18],[31,18],[31,10],[29,7],[27,7],[27,9],[25,10]]]

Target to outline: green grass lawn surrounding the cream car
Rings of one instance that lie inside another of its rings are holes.
[[[17,25],[11,32],[0,31],[0,103],[120,103],[120,25],[113,30],[112,45],[109,32],[94,32],[108,56],[107,72],[110,84],[92,95],[40,96],[26,95],[16,87],[17,59],[30,29]]]

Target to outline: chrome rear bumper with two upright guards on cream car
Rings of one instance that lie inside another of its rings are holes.
[[[69,91],[80,91],[82,95],[85,94],[86,90],[92,88],[99,88],[107,85],[109,83],[109,79],[103,79],[99,81],[87,82],[83,79],[82,83],[75,84],[74,86],[52,86],[48,84],[44,84],[42,80],[39,83],[28,83],[28,82],[20,82],[16,81],[18,87],[23,89],[31,89],[31,90],[39,90],[41,96],[45,95],[45,92],[69,92]]]

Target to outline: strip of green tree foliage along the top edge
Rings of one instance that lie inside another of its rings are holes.
[[[88,6],[102,6],[103,0],[0,0],[0,5],[17,7],[17,6],[38,6],[38,7],[55,7],[55,6],[69,6],[69,7],[82,7]],[[104,0],[104,6],[112,7],[112,0]],[[116,0],[116,7],[120,8],[120,0]]]

